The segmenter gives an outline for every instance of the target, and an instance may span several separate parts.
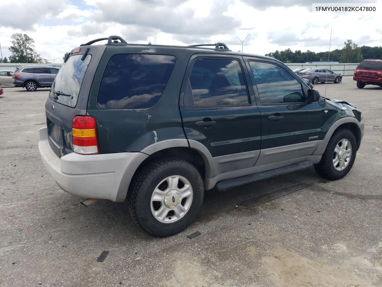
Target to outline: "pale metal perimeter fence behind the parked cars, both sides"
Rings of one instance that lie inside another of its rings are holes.
[[[61,67],[62,63],[57,64],[26,64],[26,63],[0,63],[0,70],[15,70],[18,66],[26,66],[26,65],[42,65],[42,66],[56,66]],[[305,64],[305,63],[286,63],[288,67],[292,70],[296,68],[325,68],[332,70],[336,73],[341,73],[343,76],[352,76],[354,70],[357,68],[358,63],[346,63],[346,64]]]

